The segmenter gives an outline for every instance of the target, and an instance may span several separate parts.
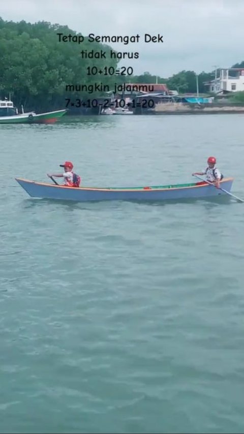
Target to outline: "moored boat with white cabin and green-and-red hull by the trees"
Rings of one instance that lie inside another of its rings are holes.
[[[30,111],[18,113],[18,109],[14,107],[12,101],[5,99],[0,100],[0,124],[1,123],[54,123],[58,118],[67,112],[64,110],[55,110],[47,113],[36,113]]]

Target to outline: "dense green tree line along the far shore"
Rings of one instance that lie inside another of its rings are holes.
[[[87,75],[87,68],[119,68],[119,60],[110,58],[111,47],[94,42],[94,51],[103,50],[106,58],[82,58],[81,50],[90,51],[91,46],[84,38],[81,45],[58,42],[57,33],[81,35],[68,26],[39,21],[35,24],[25,21],[4,21],[0,17],[0,97],[11,94],[16,106],[25,110],[52,110],[65,107],[66,98],[96,98],[102,92],[95,91],[91,96],[85,90],[70,94],[69,84],[108,84],[114,83],[165,83],[169,89],[179,93],[196,92],[196,73],[180,71],[169,78],[156,77],[149,72],[138,76]],[[114,50],[113,50],[114,51]],[[233,67],[244,67],[244,61]],[[199,93],[205,93],[205,81],[212,80],[215,71],[198,74]]]

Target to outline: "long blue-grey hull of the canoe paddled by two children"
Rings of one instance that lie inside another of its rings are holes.
[[[63,185],[48,184],[44,182],[29,181],[16,178],[16,181],[35,198],[72,200],[76,202],[102,201],[102,200],[136,200],[136,201],[164,201],[193,198],[209,198],[218,195],[227,196],[226,193],[214,185],[197,183],[177,184],[157,187],[138,188],[71,188]],[[230,192],[233,178],[224,178],[221,187]]]

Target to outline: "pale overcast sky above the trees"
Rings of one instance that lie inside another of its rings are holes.
[[[119,63],[132,66],[134,74],[167,78],[244,60],[244,0],[0,0],[0,16],[68,25],[84,36],[139,34],[137,44],[110,44],[139,52],[139,59]],[[163,35],[164,43],[145,44],[145,33]]]

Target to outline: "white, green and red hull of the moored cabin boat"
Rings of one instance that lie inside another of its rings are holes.
[[[50,111],[36,114],[35,112],[20,113],[13,116],[0,116],[1,123],[54,123],[62,117],[67,110]]]

